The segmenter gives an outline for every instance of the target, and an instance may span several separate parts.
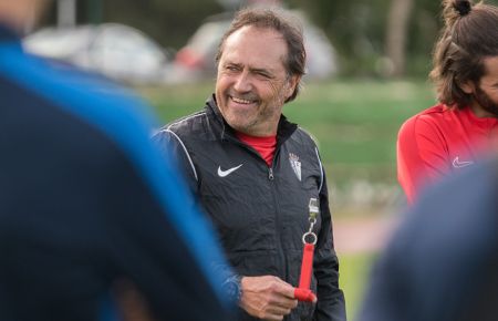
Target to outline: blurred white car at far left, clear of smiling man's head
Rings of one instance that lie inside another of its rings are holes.
[[[170,63],[166,52],[141,31],[117,23],[45,28],[24,38],[33,54],[62,60],[111,79],[164,83]]]

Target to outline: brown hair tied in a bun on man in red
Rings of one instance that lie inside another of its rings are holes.
[[[498,55],[498,7],[469,0],[443,0],[445,27],[435,45],[429,77],[437,96],[448,106],[463,108],[473,95],[461,85],[478,85],[484,60]]]

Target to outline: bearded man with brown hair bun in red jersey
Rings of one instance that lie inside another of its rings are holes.
[[[439,103],[407,120],[397,176],[408,203],[424,186],[471,166],[498,133],[498,8],[444,0],[429,77]]]

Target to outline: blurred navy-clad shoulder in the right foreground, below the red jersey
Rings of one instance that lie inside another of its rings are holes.
[[[360,321],[498,320],[498,158],[421,195],[375,263]]]

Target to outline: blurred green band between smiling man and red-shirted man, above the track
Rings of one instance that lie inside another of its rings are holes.
[[[432,104],[425,82],[343,81],[307,85],[284,113],[318,138],[334,185],[396,184],[397,131]]]

